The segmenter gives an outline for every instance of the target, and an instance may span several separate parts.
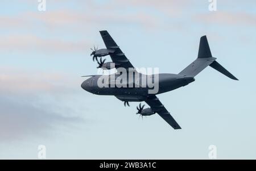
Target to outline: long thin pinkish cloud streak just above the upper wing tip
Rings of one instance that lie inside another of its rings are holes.
[[[101,27],[109,25],[122,25],[129,26],[137,24],[142,27],[153,26],[158,24],[159,18],[139,11],[131,13],[119,13],[116,9],[86,9],[85,11],[72,11],[72,10],[55,10],[45,13],[29,12],[23,14],[24,17],[30,22],[39,22],[44,24],[45,27],[57,30],[60,27],[72,28],[77,31],[88,31],[91,27]]]

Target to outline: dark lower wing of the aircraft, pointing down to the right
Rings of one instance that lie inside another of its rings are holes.
[[[159,101],[159,99],[153,95],[150,98],[148,98],[146,101],[147,105],[151,107],[151,109],[155,112],[157,112],[172,128],[175,130],[181,129],[179,124],[172,118],[170,115],[170,112],[167,111],[167,109],[163,106],[163,104]]]

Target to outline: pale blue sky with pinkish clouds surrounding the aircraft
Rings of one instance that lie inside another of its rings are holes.
[[[2,1],[0,159],[255,159],[254,1]],[[182,130],[158,115],[139,120],[138,103],[81,89],[96,74],[90,48],[108,30],[137,67],[179,73],[207,35],[214,57],[240,81],[207,68],[159,99]]]

